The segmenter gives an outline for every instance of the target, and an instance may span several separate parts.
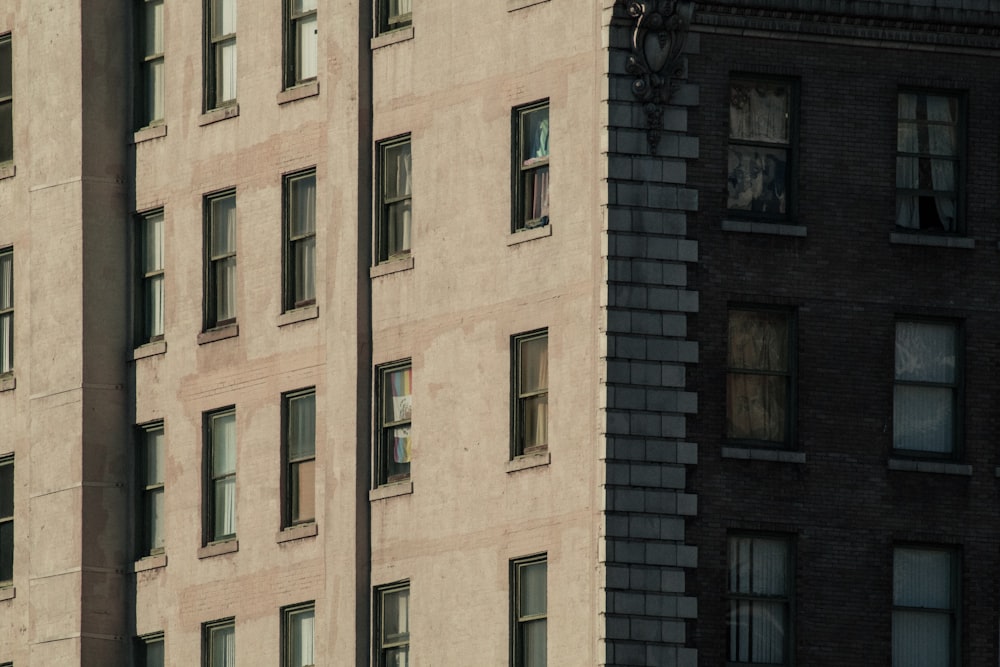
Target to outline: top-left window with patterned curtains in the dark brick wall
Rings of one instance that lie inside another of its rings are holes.
[[[727,207],[755,217],[785,218],[792,186],[791,81],[734,77],[729,87]]]

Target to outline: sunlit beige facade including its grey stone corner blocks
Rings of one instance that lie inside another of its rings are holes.
[[[0,664],[695,664],[626,4],[0,7]]]

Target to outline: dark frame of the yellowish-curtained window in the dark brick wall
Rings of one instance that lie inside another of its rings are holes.
[[[759,314],[771,314],[771,315],[783,315],[787,322],[787,338],[788,338],[788,349],[786,351],[787,356],[787,368],[782,371],[771,371],[766,368],[752,368],[752,367],[737,367],[730,366],[729,355],[731,352],[732,339],[729,334],[730,327],[732,326],[732,316],[734,312],[748,312],[748,313],[759,313]],[[726,432],[725,439],[731,445],[737,445],[741,447],[755,447],[760,449],[784,449],[784,450],[794,450],[796,448],[797,439],[797,378],[798,378],[798,311],[794,307],[788,306],[775,306],[775,305],[764,305],[764,304],[749,304],[749,303],[732,303],[726,309],[726,399],[724,402],[726,414]],[[751,438],[751,437],[740,437],[733,436],[730,433],[729,413],[731,410],[730,402],[732,397],[729,395],[729,383],[731,376],[735,375],[753,375],[753,376],[768,376],[768,377],[784,377],[785,380],[785,422],[784,422],[784,432],[785,437],[783,440],[768,440],[761,438]]]

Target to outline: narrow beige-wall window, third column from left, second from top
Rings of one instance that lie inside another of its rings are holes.
[[[236,322],[236,193],[205,198],[205,328]]]

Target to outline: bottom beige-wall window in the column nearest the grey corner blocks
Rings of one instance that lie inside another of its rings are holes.
[[[548,653],[548,561],[511,562],[511,665],[545,667]]]

